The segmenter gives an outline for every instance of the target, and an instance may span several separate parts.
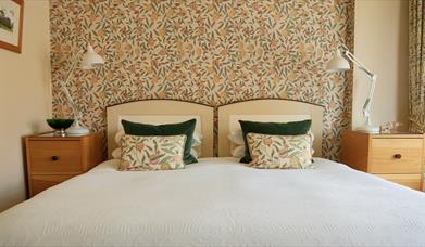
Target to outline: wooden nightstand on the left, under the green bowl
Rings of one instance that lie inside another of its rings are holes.
[[[102,160],[98,134],[32,135],[25,139],[29,197],[85,173]]]

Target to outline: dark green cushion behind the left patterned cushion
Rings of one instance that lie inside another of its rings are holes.
[[[124,132],[133,135],[177,135],[186,134],[185,153],[183,160],[185,164],[198,162],[198,160],[190,154],[195,126],[197,119],[190,119],[188,121],[167,125],[147,125],[139,122],[132,122],[127,120],[121,120],[123,123]]]

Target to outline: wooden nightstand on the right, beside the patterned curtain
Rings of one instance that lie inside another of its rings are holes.
[[[341,161],[383,179],[422,191],[423,134],[368,134],[346,131]]]

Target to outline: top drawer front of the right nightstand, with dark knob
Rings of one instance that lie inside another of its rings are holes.
[[[371,173],[421,173],[422,139],[372,139]]]

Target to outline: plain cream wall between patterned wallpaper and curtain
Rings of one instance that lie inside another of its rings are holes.
[[[387,121],[408,123],[408,4],[407,0],[357,0],[354,54],[378,75],[372,105],[376,126]],[[364,122],[362,106],[368,78],[354,69],[353,128]]]

